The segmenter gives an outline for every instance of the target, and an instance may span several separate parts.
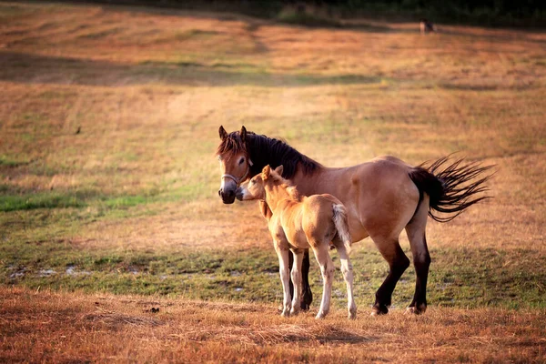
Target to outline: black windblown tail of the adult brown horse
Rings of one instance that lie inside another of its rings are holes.
[[[429,216],[439,222],[451,221],[467,207],[490,198],[476,195],[489,191],[485,183],[493,174],[484,173],[494,166],[481,166],[478,162],[463,163],[463,158],[448,162],[450,156],[438,159],[429,167],[420,165],[410,171],[410,178],[419,188],[421,198],[423,192],[430,196]],[[436,211],[447,216],[439,216]]]

